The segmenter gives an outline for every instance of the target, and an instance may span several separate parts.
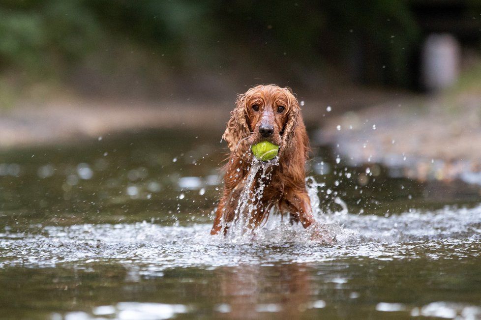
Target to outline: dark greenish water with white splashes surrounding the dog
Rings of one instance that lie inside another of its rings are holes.
[[[278,215],[224,239],[221,147],[146,132],[1,153],[0,318],[481,317],[479,187],[315,147],[306,183],[337,243]]]

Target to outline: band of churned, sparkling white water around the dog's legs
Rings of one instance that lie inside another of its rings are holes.
[[[333,214],[325,226],[338,242],[310,240],[301,226],[272,216],[250,238],[210,236],[210,225],[162,226],[83,224],[45,226],[41,232],[0,233],[6,265],[53,266],[99,261],[136,263],[155,276],[187,266],[237,266],[274,262],[323,262],[342,259],[459,259],[479,256],[481,206],[406,212],[389,217]],[[342,227],[341,227],[342,226]]]

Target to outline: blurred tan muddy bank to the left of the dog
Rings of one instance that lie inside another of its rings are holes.
[[[51,102],[25,105],[0,117],[0,148],[79,140],[149,128],[221,130],[228,117],[224,103]]]

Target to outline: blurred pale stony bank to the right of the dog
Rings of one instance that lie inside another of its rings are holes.
[[[480,183],[481,94],[393,100],[325,121],[315,139],[337,146],[351,165],[409,168],[421,179],[462,177]]]

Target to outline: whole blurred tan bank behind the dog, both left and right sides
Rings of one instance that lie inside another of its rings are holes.
[[[54,101],[25,104],[0,116],[0,149],[72,144],[111,133],[199,129],[222,135],[232,101]],[[380,163],[419,179],[480,183],[481,94],[413,96],[340,90],[298,97],[313,145],[333,145],[349,165]],[[317,129],[316,128],[320,128]],[[313,130],[312,130],[313,129]],[[400,169],[400,170],[401,170]]]

